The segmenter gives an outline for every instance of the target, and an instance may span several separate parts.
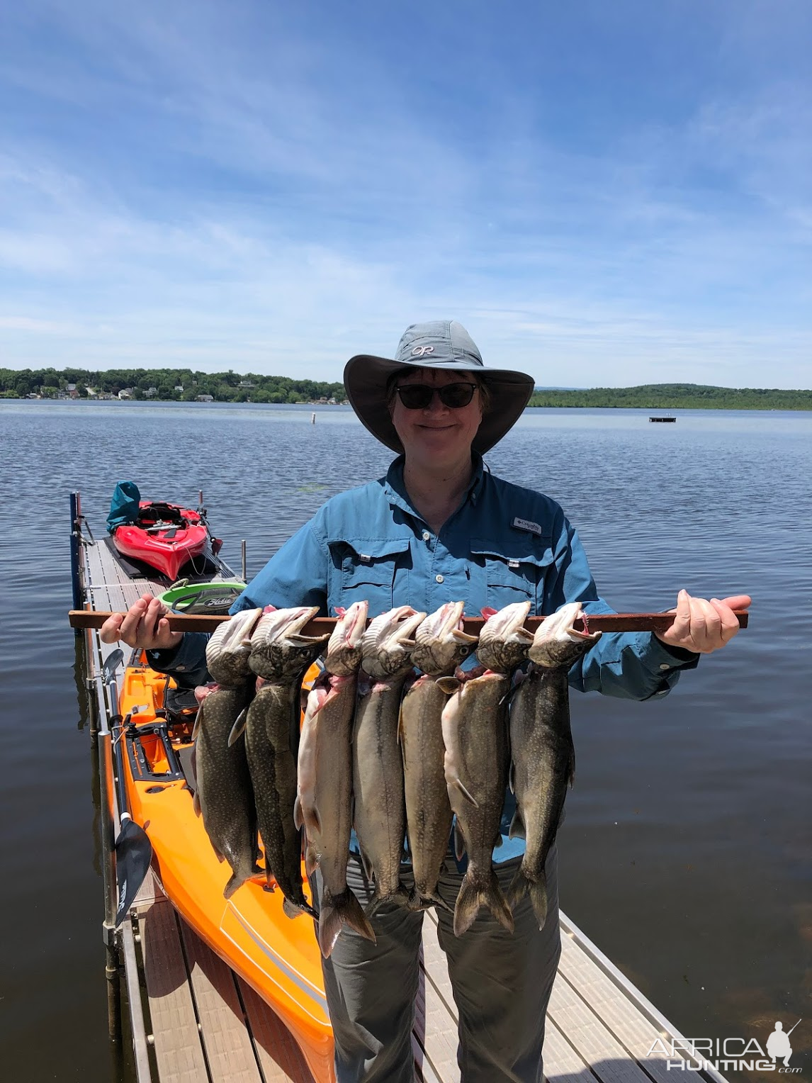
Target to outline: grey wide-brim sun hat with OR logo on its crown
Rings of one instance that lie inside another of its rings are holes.
[[[344,389],[363,425],[393,452],[403,452],[387,405],[387,383],[404,368],[443,368],[475,373],[487,384],[490,405],[472,447],[484,455],[512,429],[533,394],[533,377],[509,368],[486,368],[476,343],[455,319],[411,324],[397,343],[394,357],[359,353],[344,366]]]

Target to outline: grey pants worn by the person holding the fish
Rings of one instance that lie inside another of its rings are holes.
[[[503,891],[521,859],[496,865]],[[372,895],[356,858],[348,883],[366,905]],[[320,879],[314,891],[320,897]],[[403,882],[412,886],[411,873]],[[462,875],[446,860],[437,885],[451,909]],[[513,911],[511,935],[484,908],[461,937],[450,913],[437,908],[440,945],[446,953],[459,1012],[462,1083],[541,1083],[545,1013],[561,954],[555,848],[547,862],[549,909],[542,930],[525,898]],[[411,1027],[419,980],[422,913],[382,905],[371,918],[378,943],[342,930],[322,961],[336,1040],[338,1083],[412,1083]]]

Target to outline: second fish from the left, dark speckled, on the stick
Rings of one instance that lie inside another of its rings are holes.
[[[302,678],[329,638],[301,635],[317,612],[317,606],[301,606],[266,613],[251,637],[248,657],[251,670],[264,681],[246,716],[248,767],[267,888],[273,889],[273,875],[289,917],[301,912],[317,916],[302,889],[301,832],[293,822]]]

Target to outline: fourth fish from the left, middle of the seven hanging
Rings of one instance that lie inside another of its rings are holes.
[[[401,694],[411,669],[410,638],[425,613],[400,605],[377,616],[362,640],[358,702],[353,727],[355,832],[366,875],[375,880],[367,906],[406,904],[401,859],[406,833],[403,758],[397,740]]]

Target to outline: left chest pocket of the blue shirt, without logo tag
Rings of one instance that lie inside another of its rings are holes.
[[[346,608],[353,602],[368,601],[370,616],[391,609],[395,582],[402,593],[402,580],[408,575],[409,539],[353,538],[329,545],[338,573],[338,598],[329,604]]]

